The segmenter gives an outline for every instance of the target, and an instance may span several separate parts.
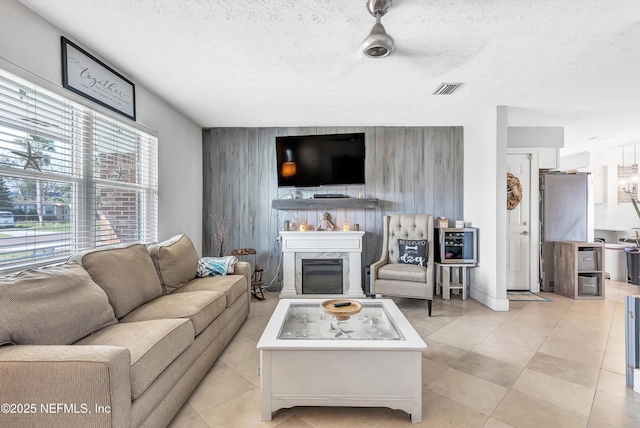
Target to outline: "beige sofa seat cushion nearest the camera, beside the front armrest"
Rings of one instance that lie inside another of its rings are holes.
[[[189,320],[166,319],[110,325],[75,344],[127,348],[131,354],[131,399],[135,400],[193,339]]]

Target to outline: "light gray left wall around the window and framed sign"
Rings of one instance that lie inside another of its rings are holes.
[[[0,1],[0,64],[7,71],[125,123],[129,119],[62,88],[60,36],[67,36],[17,0]],[[73,42],[109,64],[100,52]],[[118,70],[126,76],[126,70]],[[135,82],[134,82],[135,83]],[[138,124],[159,140],[159,240],[186,233],[202,244],[202,130],[146,88],[136,85]]]

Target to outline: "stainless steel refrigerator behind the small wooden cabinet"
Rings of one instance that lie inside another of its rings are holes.
[[[591,174],[540,174],[540,238],[540,286],[553,291],[553,242],[593,242]]]

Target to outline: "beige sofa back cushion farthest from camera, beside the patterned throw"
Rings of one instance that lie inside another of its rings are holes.
[[[176,235],[149,247],[149,254],[165,294],[196,277],[198,252],[187,235]]]

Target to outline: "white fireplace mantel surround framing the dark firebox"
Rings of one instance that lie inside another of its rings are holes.
[[[280,297],[302,296],[303,259],[342,260],[342,294],[364,297],[361,275],[364,231],[283,231],[280,238],[283,259]]]

